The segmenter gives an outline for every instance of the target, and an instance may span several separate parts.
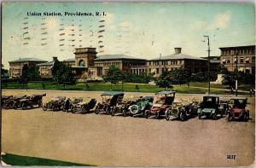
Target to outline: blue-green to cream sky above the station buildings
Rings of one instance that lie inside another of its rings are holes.
[[[28,16],[27,12],[41,13]],[[44,16],[61,12],[62,16]],[[65,12],[94,16],[65,16]],[[96,12],[105,15],[96,16]],[[125,54],[153,59],[182,53],[207,56],[219,47],[255,43],[253,3],[3,3],[2,62],[36,57],[51,61],[74,58],[79,47],[96,47],[98,55]],[[104,20],[100,22],[101,20]],[[100,37],[100,38],[99,38]],[[100,48],[100,45],[102,46]]]

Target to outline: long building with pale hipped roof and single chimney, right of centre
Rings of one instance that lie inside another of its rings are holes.
[[[147,61],[148,73],[153,73],[155,77],[160,76],[162,72],[174,71],[180,67],[188,68],[190,72],[207,72],[207,59],[184,55],[182,48],[174,48],[172,55],[160,56]]]

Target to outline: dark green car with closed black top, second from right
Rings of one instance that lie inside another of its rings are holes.
[[[212,117],[212,119],[218,119],[218,114],[222,118],[224,115],[224,108],[220,108],[218,96],[203,96],[203,101],[199,104],[197,109],[198,119],[202,116]]]

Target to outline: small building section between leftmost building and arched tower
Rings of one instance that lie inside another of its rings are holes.
[[[54,56],[52,61],[38,64],[39,76],[41,78],[52,78],[52,68],[55,65],[57,57]]]

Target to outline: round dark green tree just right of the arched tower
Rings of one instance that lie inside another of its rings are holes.
[[[112,90],[112,84],[117,84],[119,81],[123,80],[123,73],[118,67],[111,66],[108,68],[107,74],[102,78],[105,82],[110,82]]]

